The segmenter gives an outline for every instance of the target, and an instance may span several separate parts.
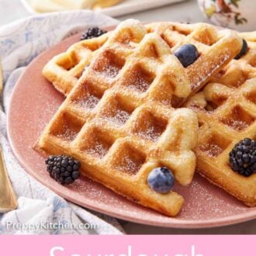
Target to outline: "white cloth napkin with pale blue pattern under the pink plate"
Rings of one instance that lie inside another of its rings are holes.
[[[9,177],[18,197],[18,209],[0,215],[0,234],[122,234],[109,216],[96,216],[66,202],[22,169],[6,137],[5,112],[13,87],[26,65],[43,50],[89,26],[112,26],[118,21],[90,11],[32,16],[0,27],[0,58],[5,81],[0,107],[0,144]],[[1,196],[1,195],[0,195]]]

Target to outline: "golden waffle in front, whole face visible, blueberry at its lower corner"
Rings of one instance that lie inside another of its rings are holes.
[[[123,22],[43,130],[36,150],[71,155],[89,178],[175,216],[182,195],[154,192],[147,176],[166,166],[179,184],[192,182],[198,120],[192,110],[166,104],[163,90],[189,95],[185,68],[157,33],[146,35],[140,22]]]

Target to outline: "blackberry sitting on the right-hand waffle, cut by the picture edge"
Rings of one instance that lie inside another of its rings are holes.
[[[245,138],[230,152],[230,166],[246,177],[256,173],[256,140]]]

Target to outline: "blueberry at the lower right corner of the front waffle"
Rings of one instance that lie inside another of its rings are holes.
[[[154,168],[147,177],[147,184],[158,193],[168,193],[175,185],[175,177],[166,167]]]

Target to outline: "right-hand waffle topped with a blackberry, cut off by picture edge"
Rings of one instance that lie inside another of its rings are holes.
[[[256,174],[244,177],[229,165],[235,144],[245,137],[256,139],[256,32],[241,36],[247,54],[231,61],[186,106],[199,117],[199,172],[247,206],[256,206]]]

